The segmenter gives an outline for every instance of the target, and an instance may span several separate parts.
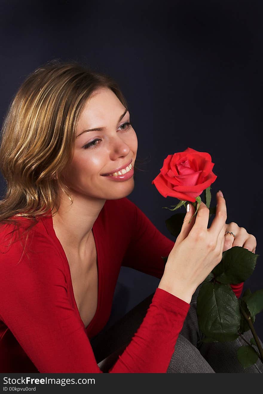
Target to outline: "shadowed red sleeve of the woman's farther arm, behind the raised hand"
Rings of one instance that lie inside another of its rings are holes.
[[[161,279],[165,267],[162,257],[169,256],[174,242],[163,235],[137,205],[128,199],[127,204],[128,208],[134,211],[134,224],[133,235],[122,266]],[[230,285],[237,298],[241,296],[243,283]]]

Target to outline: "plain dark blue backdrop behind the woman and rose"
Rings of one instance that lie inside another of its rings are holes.
[[[39,3],[1,2],[1,119],[26,76],[46,61],[85,61],[110,74],[128,100],[137,157],[145,159],[128,198],[173,239],[165,227],[172,212],[162,206],[178,200],[165,199],[151,182],[168,154],[209,152],[217,175],[211,206],[221,189],[227,223],[256,236],[260,256],[244,289],[263,288],[261,1]],[[108,325],[158,283],[122,268]],[[261,339],[262,315],[254,324]]]

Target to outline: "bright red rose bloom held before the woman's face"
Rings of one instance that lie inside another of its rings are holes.
[[[152,181],[163,197],[176,197],[194,203],[202,191],[215,182],[214,163],[207,152],[192,148],[169,154],[163,161],[161,173]]]

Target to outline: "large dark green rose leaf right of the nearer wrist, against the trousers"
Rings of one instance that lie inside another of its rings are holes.
[[[239,334],[239,303],[233,290],[224,284],[202,284],[196,302],[198,325],[202,333],[218,340],[235,340]]]

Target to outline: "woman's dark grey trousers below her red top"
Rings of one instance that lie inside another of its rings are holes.
[[[200,287],[201,285],[198,286],[191,299],[190,309],[176,341],[166,373],[262,373],[263,363],[259,359],[256,364],[245,369],[239,364],[237,349],[246,345],[242,338],[238,337],[232,342],[204,343],[200,341],[203,335],[199,330],[196,314],[196,298]],[[102,330],[91,338],[96,361],[103,372],[108,372],[131,342],[131,338],[143,322],[153,296],[154,293],[141,301],[106,332]],[[250,343],[250,338],[253,336],[250,331],[247,331],[243,337]],[[260,339],[259,341],[263,347]],[[256,350],[258,351],[257,348]]]

